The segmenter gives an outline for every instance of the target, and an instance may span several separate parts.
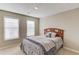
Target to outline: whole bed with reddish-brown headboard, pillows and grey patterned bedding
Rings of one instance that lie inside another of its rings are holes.
[[[63,47],[64,30],[44,29],[44,36],[29,36],[21,42],[21,50],[26,55],[55,55]]]

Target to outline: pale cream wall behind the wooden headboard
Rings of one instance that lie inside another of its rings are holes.
[[[44,28],[64,29],[64,46],[79,51],[79,9],[40,18],[40,34]]]

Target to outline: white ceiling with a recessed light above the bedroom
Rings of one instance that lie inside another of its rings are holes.
[[[38,7],[37,10],[34,7]],[[79,8],[78,3],[0,3],[0,9],[33,17],[45,17]]]

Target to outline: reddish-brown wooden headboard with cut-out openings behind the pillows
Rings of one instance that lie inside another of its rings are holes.
[[[54,32],[56,33],[56,37],[61,37],[62,39],[64,38],[64,30],[59,29],[59,28],[46,28],[44,29],[44,34],[47,32]]]

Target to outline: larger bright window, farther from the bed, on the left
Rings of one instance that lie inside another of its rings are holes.
[[[10,17],[4,17],[4,38],[12,40],[19,38],[19,20]]]

